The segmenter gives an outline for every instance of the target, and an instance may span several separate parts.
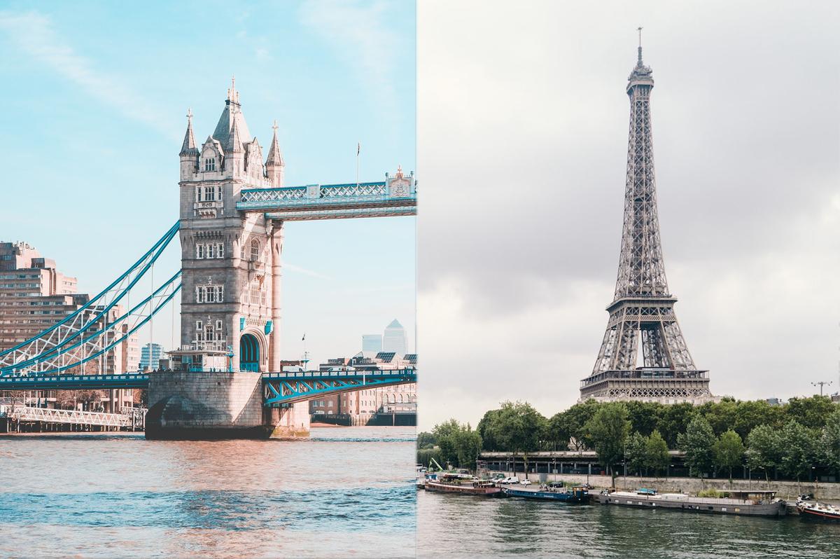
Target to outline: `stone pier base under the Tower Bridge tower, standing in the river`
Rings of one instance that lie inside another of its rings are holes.
[[[153,372],[145,433],[158,440],[299,438],[309,435],[307,408],[265,409],[257,372]]]

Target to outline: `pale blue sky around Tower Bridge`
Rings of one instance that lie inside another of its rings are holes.
[[[82,292],[175,223],[186,109],[203,141],[234,74],[264,150],[277,120],[287,185],[354,181],[357,142],[362,181],[415,168],[411,2],[0,2],[0,50],[0,240]],[[304,331],[320,361],[394,318],[413,348],[414,218],[287,224],[284,260],[287,358]],[[177,266],[169,250],[155,275]]]

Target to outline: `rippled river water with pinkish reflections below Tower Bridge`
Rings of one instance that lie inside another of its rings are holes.
[[[0,556],[413,557],[413,427],[0,438]]]

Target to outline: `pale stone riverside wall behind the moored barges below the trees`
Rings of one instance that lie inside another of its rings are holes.
[[[506,476],[518,476],[519,479],[524,479],[525,474],[522,472],[502,472]],[[545,476],[549,482],[563,481],[565,483],[586,483],[586,475],[579,474],[537,474],[529,473],[528,479],[534,483],[539,483],[540,476]],[[595,488],[608,488],[612,483],[610,476],[590,476],[589,483]],[[718,491],[727,490],[749,490],[749,489],[769,489],[778,491],[778,497],[784,498],[787,501],[793,502],[801,493],[814,493],[816,499],[823,499],[827,501],[840,501],[840,483],[815,483],[815,482],[774,482],[767,483],[764,479],[753,479],[752,482],[746,479],[734,479],[729,483],[728,479],[698,479],[697,477],[636,477],[636,476],[618,476],[616,477],[616,488],[618,489],[637,489],[637,488],[655,488],[659,493],[692,493],[695,494],[703,489],[717,489]]]

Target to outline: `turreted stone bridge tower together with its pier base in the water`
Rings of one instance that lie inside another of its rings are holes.
[[[245,188],[283,187],[277,126],[268,156],[235,82],[197,145],[187,112],[181,158],[181,347],[150,376],[151,439],[307,435],[306,402],[263,406],[262,372],[280,372],[283,221],[236,208]]]

